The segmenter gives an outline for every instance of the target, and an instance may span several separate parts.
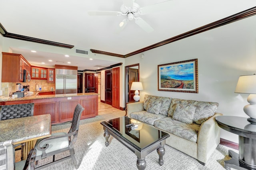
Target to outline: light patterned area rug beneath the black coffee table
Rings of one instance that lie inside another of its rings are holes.
[[[121,117],[118,113],[98,115],[94,118],[80,121],[78,140],[75,144],[75,157],[79,170],[136,170],[136,155],[124,147],[112,136],[110,145],[105,146],[103,127],[101,121]],[[52,127],[52,133],[68,132],[70,123]],[[224,160],[229,160],[228,150],[231,148],[219,145],[211,155],[206,165],[203,166],[196,159],[165,145],[164,165],[158,164],[157,152],[151,152],[146,156],[146,170],[225,170]],[[234,150],[234,149],[231,149]],[[234,150],[238,152],[237,150]],[[69,154],[66,152],[65,154]],[[58,155],[58,157],[62,157]],[[56,157],[56,159],[58,159]],[[45,164],[50,158],[40,160],[38,165]],[[75,170],[71,159],[54,164],[44,170]]]

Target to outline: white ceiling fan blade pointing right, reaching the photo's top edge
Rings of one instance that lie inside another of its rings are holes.
[[[158,12],[158,11],[164,11],[164,10],[169,10],[174,6],[175,0],[168,0],[165,2],[160,2],[157,4],[153,4],[150,6],[145,6],[140,8],[139,14],[144,15],[144,14],[149,14],[152,12]]]

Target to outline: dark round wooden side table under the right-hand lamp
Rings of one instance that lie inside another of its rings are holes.
[[[256,125],[248,122],[246,117],[217,116],[215,119],[222,129],[239,136],[239,154],[228,150],[232,158],[224,161],[224,167],[229,170],[256,169]]]

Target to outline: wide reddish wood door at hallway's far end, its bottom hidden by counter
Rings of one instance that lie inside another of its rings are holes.
[[[97,74],[94,73],[85,73],[85,92],[86,93],[96,93],[96,80]]]

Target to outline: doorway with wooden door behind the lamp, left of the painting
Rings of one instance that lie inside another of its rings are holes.
[[[125,103],[134,101],[134,90],[130,90],[132,82],[140,81],[140,64],[125,66]],[[125,106],[126,107],[126,106]]]

